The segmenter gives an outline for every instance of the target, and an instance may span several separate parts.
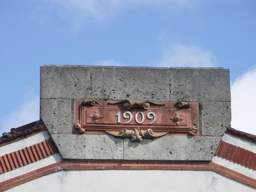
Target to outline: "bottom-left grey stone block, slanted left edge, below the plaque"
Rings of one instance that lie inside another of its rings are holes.
[[[122,159],[124,140],[98,134],[52,134],[65,159]]]

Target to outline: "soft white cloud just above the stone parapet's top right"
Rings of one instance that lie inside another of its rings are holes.
[[[159,67],[216,67],[215,56],[196,45],[172,44],[167,46],[156,63]]]

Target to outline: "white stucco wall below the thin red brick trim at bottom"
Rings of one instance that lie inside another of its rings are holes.
[[[63,170],[7,191],[249,192],[255,189],[212,171]]]

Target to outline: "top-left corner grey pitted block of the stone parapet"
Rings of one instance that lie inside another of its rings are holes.
[[[91,98],[89,66],[43,66],[40,73],[40,98]]]

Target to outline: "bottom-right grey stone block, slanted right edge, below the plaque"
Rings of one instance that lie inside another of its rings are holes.
[[[124,159],[211,161],[221,136],[163,136],[140,143],[124,139]]]

